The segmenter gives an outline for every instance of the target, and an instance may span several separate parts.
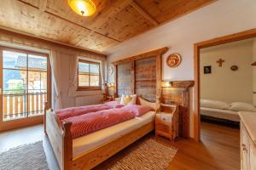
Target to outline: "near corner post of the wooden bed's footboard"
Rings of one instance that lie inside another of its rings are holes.
[[[70,132],[72,122],[63,122],[64,127],[64,170],[70,170],[73,168],[73,138]]]

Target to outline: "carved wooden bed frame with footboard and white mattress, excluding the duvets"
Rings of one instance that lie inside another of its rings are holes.
[[[148,105],[154,111],[148,111],[143,116],[73,139],[71,122],[59,122],[55,112],[46,104],[44,133],[49,138],[61,170],[96,167],[119,150],[154,130],[154,114],[159,109],[159,105],[142,98],[138,98],[138,105]]]

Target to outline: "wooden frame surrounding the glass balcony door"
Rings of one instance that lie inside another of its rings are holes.
[[[49,54],[44,54],[40,52],[34,52],[26,49],[20,48],[10,48],[0,46],[0,75],[3,75],[3,50],[9,50],[18,53],[26,53],[26,54],[35,54],[35,55],[42,55],[47,58],[47,101],[49,105],[51,105],[51,67],[49,61]],[[0,78],[0,88],[2,88],[0,98],[3,97],[3,77]],[[3,102],[0,102],[0,132],[18,128],[18,127],[27,127],[34,124],[39,124],[44,122],[44,115],[40,116],[32,116],[32,117],[25,117],[21,119],[16,119],[12,121],[3,122]]]

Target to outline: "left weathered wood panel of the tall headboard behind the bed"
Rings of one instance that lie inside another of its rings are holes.
[[[132,62],[117,65],[118,69],[118,96],[122,94],[131,95],[132,93],[132,82],[131,82],[131,67]]]

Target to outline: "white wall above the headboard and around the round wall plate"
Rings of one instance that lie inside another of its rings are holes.
[[[193,80],[194,43],[256,28],[255,16],[255,0],[219,0],[110,48],[106,51],[110,54],[108,64],[113,60],[141,54],[155,48],[169,47],[163,59],[163,78]],[[182,55],[183,62],[179,67],[171,69],[166,66],[165,60],[168,54],[174,52]],[[113,76],[108,77],[108,82],[113,82]],[[192,107],[190,112],[190,136],[193,137]]]

